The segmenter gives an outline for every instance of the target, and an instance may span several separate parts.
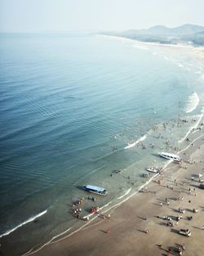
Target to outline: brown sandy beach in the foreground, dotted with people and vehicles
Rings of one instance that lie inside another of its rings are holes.
[[[203,132],[200,134],[204,135]],[[179,255],[178,249],[184,245],[184,255],[202,256],[204,190],[198,187],[198,173],[204,174],[204,136],[194,141],[180,156],[184,160],[193,159],[195,163],[168,165],[163,177],[157,176],[149,183],[147,192],[140,191],[105,213],[106,216],[111,214],[110,218],[98,217],[81,231],[46,245],[32,255]],[[158,179],[160,185],[157,184]],[[180,213],[179,208],[185,212]],[[193,213],[193,209],[198,209],[198,212]],[[180,215],[182,219],[177,222],[176,217]],[[164,216],[171,217],[175,226],[167,226]],[[180,228],[188,228],[192,235],[180,235]]]

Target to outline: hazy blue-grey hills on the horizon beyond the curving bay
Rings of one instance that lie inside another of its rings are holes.
[[[131,38],[144,42],[156,43],[193,43],[204,45],[204,27],[199,25],[185,24],[176,28],[168,28],[156,25],[149,29],[131,29],[121,33],[105,33],[125,38]]]

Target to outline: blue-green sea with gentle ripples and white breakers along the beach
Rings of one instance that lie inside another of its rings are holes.
[[[204,65],[188,47],[1,34],[0,55],[0,237],[21,253],[84,225],[71,206],[87,199],[84,184],[109,195],[86,200],[82,217],[105,211],[147,182],[149,165],[166,164],[158,152],[197,136]]]

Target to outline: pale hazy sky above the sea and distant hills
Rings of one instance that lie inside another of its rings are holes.
[[[204,26],[204,0],[0,0],[1,32]]]

